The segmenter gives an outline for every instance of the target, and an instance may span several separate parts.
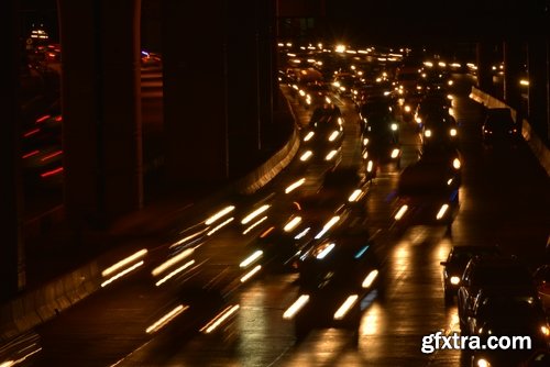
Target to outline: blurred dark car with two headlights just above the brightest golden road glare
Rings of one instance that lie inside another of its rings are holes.
[[[399,175],[394,225],[400,231],[414,225],[446,225],[451,234],[460,208],[460,168],[457,149],[425,147],[420,159]]]

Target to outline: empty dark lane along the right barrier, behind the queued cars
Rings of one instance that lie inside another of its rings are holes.
[[[484,108],[455,99],[464,158],[458,244],[498,244],[535,267],[550,229],[550,181],[525,142],[491,148],[481,140]]]

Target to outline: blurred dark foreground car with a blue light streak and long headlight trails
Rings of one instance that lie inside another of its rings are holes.
[[[356,345],[362,312],[377,294],[372,291],[385,288],[369,235],[329,237],[300,257],[299,269],[300,296],[283,314],[294,320],[297,340],[314,329],[339,327],[352,331]]]

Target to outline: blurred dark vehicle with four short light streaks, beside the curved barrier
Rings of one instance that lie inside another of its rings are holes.
[[[342,159],[342,124],[339,110],[317,109],[304,132],[299,160],[302,164],[321,163],[334,169]]]

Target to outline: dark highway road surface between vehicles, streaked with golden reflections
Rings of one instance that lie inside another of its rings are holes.
[[[174,243],[185,240],[194,244],[197,254],[189,259],[197,266],[199,281],[212,283],[215,293],[224,294],[223,302],[210,304],[207,297],[188,299],[185,290],[188,283],[195,283],[194,276],[182,276],[167,291],[160,290],[151,270],[170,254],[172,243],[143,244],[148,248],[143,269],[37,329],[43,349],[35,365],[470,366],[465,352],[420,352],[422,336],[460,331],[455,305],[446,307],[443,302],[440,262],[452,245],[496,244],[535,269],[542,262],[548,235],[549,182],[527,145],[503,151],[483,147],[483,108],[469,99],[473,78],[453,75],[453,79],[463,176],[452,235],[446,233],[444,226],[395,231],[392,224],[399,171],[389,169],[377,175],[367,193],[366,218],[361,225],[369,229],[375,251],[386,264],[388,285],[383,300],[375,291],[371,294],[356,347],[346,331],[331,329],[315,330],[296,343],[293,323],[283,320],[297,297],[296,274],[262,269],[245,282],[239,280],[245,274],[239,264],[249,255],[249,246],[262,227],[243,235],[239,220],[265,203],[284,207],[288,200],[285,189],[299,178],[304,177],[305,184],[296,190],[316,191],[319,187],[323,167],[312,165],[304,170],[297,156],[288,169],[254,196],[228,198],[198,214],[206,220],[218,209],[234,205],[234,211],[227,214],[234,220],[217,233],[205,235],[200,223],[194,222],[176,229],[182,234]],[[290,97],[289,87],[283,88],[299,125],[307,126],[311,110]],[[340,165],[364,171],[356,110],[349,99],[332,98],[344,121]],[[406,167],[417,160],[420,143],[414,122],[402,123],[399,134],[402,166]],[[277,213],[273,215],[278,218]],[[166,329],[153,335],[145,332],[155,319],[177,304],[189,308]],[[211,334],[200,332],[228,305],[239,305],[231,322]]]

